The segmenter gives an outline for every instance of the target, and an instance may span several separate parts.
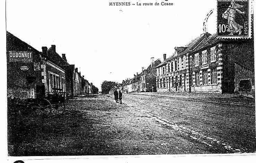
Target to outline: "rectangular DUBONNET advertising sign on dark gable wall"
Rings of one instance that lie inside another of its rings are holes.
[[[9,62],[32,62],[33,52],[31,51],[9,51],[8,52]]]

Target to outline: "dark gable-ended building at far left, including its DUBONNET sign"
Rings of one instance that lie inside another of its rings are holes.
[[[44,94],[41,52],[6,31],[7,97],[36,98]]]

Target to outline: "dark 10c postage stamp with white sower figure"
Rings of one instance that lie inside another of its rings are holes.
[[[251,0],[217,0],[217,36],[251,37]]]

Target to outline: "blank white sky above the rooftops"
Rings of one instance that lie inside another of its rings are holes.
[[[56,45],[81,75],[101,90],[104,80],[121,83],[151,57],[163,61],[203,33],[207,13],[208,32],[216,33],[216,0],[131,0],[170,2],[173,6],[109,6],[120,0],[7,0],[6,28],[42,51]],[[121,2],[121,1],[120,1]]]

